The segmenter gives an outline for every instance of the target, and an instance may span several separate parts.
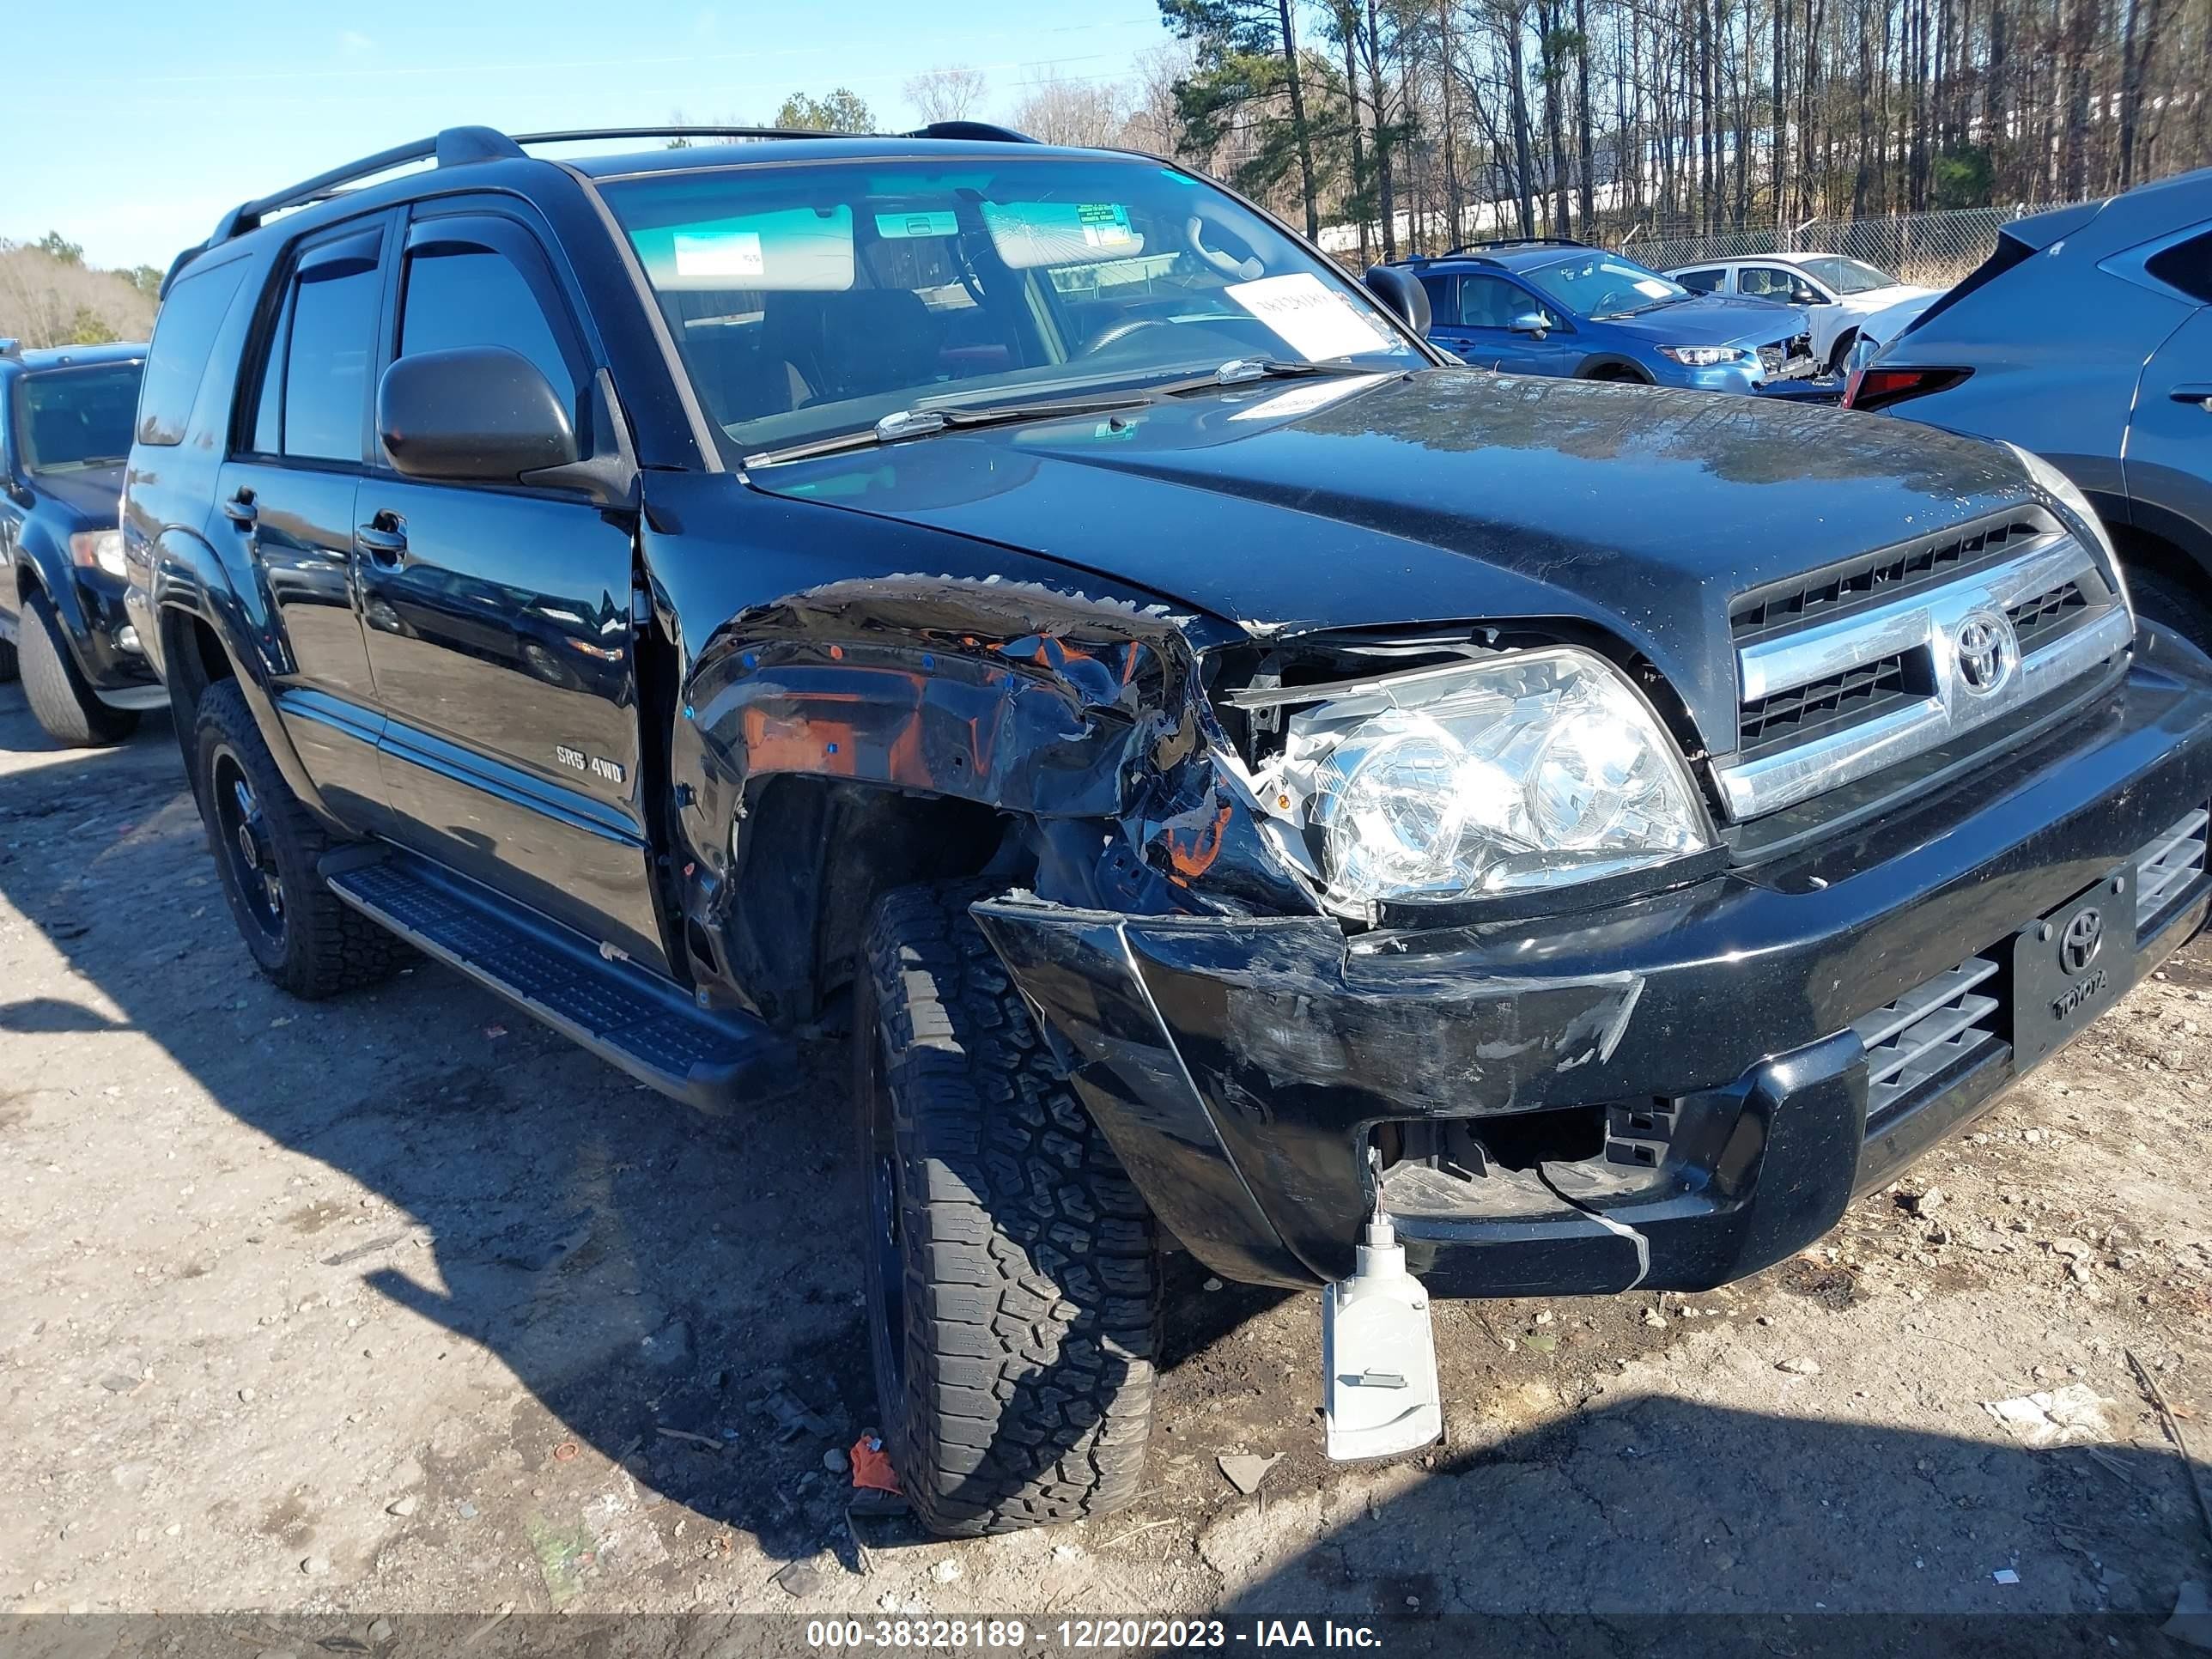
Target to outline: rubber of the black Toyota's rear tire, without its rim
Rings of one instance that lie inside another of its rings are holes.
[[[228,854],[215,845],[217,818],[215,803],[208,799],[206,737],[210,732],[228,739],[246,765],[248,781],[254,785],[261,812],[270,823],[270,841],[276,847],[276,867],[285,887],[285,958],[270,964],[261,951],[252,951],[254,962],[270,980],[303,1002],[321,1002],[341,991],[392,978],[409,956],[407,945],[332,894],[316,872],[323,854],[338,843],[283,781],[276,757],[261,739],[261,728],[234,679],[217,681],[201,695],[192,734],[192,790],[199,794],[199,816],[208,827],[208,849],[217,863],[228,872]],[[223,896],[234,909],[237,898],[230,894],[228,874],[221,880]],[[237,922],[239,931],[248,933],[248,918],[237,916]],[[252,949],[250,933],[248,949]]]

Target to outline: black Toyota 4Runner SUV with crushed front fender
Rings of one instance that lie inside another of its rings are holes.
[[[1453,367],[1150,157],[730,137],[230,215],[128,602],[283,987],[710,1110],[849,1000],[927,1524],[1135,1493],[1164,1239],[1717,1285],[2203,920],[2212,664],[2035,458]]]

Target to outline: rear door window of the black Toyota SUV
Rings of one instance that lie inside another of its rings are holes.
[[[361,462],[369,363],[383,307],[380,234],[354,234],[307,252],[292,274],[283,332],[279,453]],[[265,398],[263,398],[265,400]],[[254,414],[259,436],[265,409]]]

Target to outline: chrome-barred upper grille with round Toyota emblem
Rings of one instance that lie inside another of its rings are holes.
[[[2097,555],[2039,509],[1770,584],[1730,606],[1736,821],[1882,772],[2053,692],[2135,637]]]

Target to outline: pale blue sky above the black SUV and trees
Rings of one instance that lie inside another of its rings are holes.
[[[60,230],[95,265],[166,265],[246,197],[440,126],[765,122],[785,93],[852,86],[911,126],[936,64],[1022,82],[1128,80],[1168,42],[1155,0],[13,0],[0,237]],[[608,20],[615,20],[613,27]]]

